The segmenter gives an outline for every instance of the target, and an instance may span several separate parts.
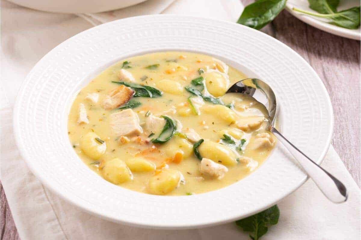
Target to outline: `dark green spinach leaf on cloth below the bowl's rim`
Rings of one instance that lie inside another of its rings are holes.
[[[279,218],[279,209],[274,205],[260,213],[236,221],[236,225],[245,232],[250,232],[249,237],[258,240],[266,234],[268,227],[276,225]]]

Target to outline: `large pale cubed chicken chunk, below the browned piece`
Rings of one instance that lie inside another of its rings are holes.
[[[132,109],[111,114],[110,128],[116,136],[132,136],[143,132],[139,126],[139,117]]]

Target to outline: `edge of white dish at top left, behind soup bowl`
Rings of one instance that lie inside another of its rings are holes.
[[[54,13],[100,13],[126,8],[146,0],[9,0],[12,3],[36,10]]]

